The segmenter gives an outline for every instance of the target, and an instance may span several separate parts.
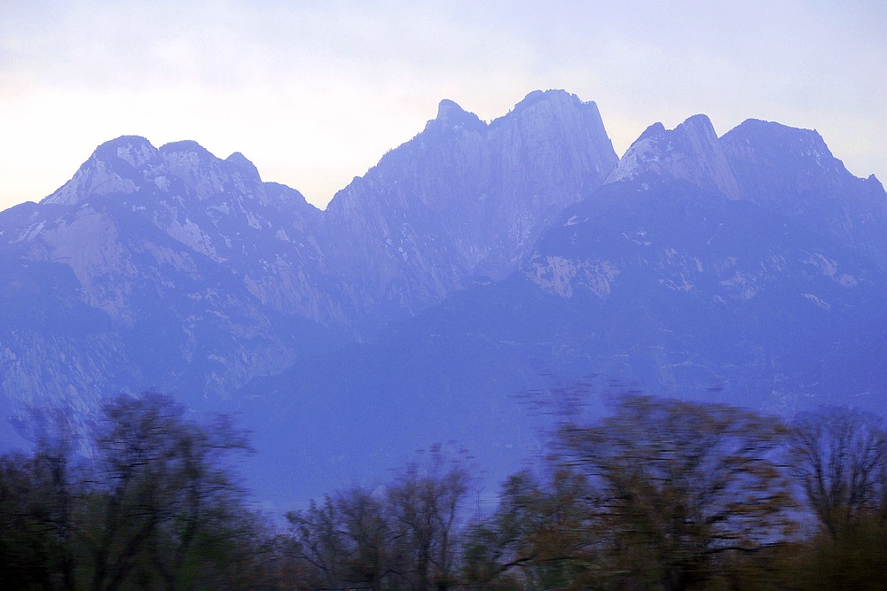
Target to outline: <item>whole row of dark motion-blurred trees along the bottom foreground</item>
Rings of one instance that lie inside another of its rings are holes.
[[[37,418],[35,451],[0,458],[4,588],[887,588],[887,432],[847,408],[786,424],[625,395],[564,418],[488,511],[436,450],[286,526],[251,509],[224,418],[159,394],[107,400],[82,433]]]

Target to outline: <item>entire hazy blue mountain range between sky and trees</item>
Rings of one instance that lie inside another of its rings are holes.
[[[882,184],[779,123],[655,123],[619,158],[562,90],[489,123],[443,100],[323,211],[239,153],[123,136],[0,213],[0,410],[234,412],[279,503],[435,441],[495,480],[573,385],[883,412],[885,293]]]

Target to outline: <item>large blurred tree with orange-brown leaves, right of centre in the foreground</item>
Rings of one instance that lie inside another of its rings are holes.
[[[598,579],[632,588],[705,584],[724,555],[792,530],[789,482],[775,462],[785,429],[718,404],[625,395],[596,424],[565,424],[559,461],[590,478]]]

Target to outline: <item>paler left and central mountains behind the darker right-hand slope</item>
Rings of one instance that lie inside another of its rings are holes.
[[[6,395],[84,406],[119,388],[227,396],[479,272],[506,274],[615,164],[596,106],[562,91],[489,126],[443,101],[326,212],[263,183],[239,153],[120,137],[40,204],[0,214],[8,309],[27,307],[17,286],[30,285],[59,320],[4,319]]]

